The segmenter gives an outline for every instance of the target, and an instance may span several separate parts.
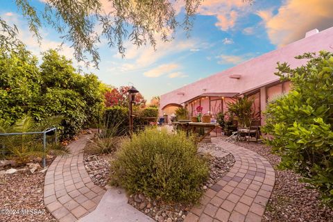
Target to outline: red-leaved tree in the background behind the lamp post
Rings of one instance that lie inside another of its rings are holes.
[[[108,92],[105,92],[105,106],[112,107],[114,105],[119,105],[122,107],[128,107],[128,89],[130,89],[129,86],[121,86],[119,89],[114,88]],[[144,105],[146,105],[144,96],[142,96],[140,93],[137,93],[135,95],[135,106],[144,108]]]

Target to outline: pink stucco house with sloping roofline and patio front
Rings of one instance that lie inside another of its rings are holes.
[[[176,108],[183,106],[193,115],[196,107],[201,105],[203,113],[210,112],[214,118],[218,112],[228,110],[228,101],[242,95],[255,96],[255,109],[261,113],[269,98],[290,89],[289,82],[281,83],[274,75],[277,62],[298,67],[305,60],[296,60],[295,56],[321,50],[333,51],[333,27],[321,32],[314,29],[301,40],[163,94],[160,96],[160,114],[170,116]],[[264,117],[260,116],[264,124]]]

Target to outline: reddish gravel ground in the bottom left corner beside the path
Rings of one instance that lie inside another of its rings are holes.
[[[0,176],[1,210],[37,210],[37,214],[8,215],[0,212],[0,221],[56,221],[44,207],[44,176],[44,173],[25,172]]]

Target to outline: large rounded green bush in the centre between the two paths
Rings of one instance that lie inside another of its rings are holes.
[[[195,202],[207,180],[207,161],[193,137],[146,128],[123,142],[111,163],[112,181],[130,194],[143,193],[167,202]]]

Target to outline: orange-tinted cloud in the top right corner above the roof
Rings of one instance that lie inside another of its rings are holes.
[[[288,0],[273,15],[272,10],[257,12],[271,42],[283,46],[300,40],[314,28],[323,30],[333,24],[332,0]]]

